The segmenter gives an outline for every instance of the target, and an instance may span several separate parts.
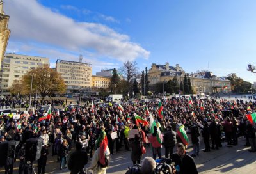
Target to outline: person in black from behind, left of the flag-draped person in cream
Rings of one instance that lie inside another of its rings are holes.
[[[76,150],[70,154],[68,159],[68,169],[70,174],[82,173],[84,165],[88,162],[87,153],[85,150],[82,150],[82,143],[76,143]]]

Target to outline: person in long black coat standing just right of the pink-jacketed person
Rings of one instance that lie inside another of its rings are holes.
[[[173,148],[177,143],[176,132],[172,130],[172,126],[168,125],[166,127],[166,132],[164,132],[164,148],[165,148],[165,157],[169,158],[173,154]]]

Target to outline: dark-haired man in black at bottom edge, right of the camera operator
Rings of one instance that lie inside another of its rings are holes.
[[[172,161],[175,162],[176,173],[198,174],[195,160],[186,154],[185,146],[182,143],[177,145],[177,153],[172,155]]]

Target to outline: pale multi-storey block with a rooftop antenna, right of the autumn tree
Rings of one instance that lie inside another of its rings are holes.
[[[92,64],[58,59],[56,71],[67,85],[67,93],[91,91]]]

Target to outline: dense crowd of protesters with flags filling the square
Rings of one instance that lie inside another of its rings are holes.
[[[10,115],[0,116],[0,143],[15,140],[18,144],[15,157],[4,165],[6,173],[12,173],[15,159],[20,162],[19,173],[24,172],[27,162],[24,146],[30,138],[42,138],[43,141],[37,161],[38,173],[45,173],[49,154],[56,155],[60,170],[69,168],[71,173],[83,171],[89,154],[92,158],[90,170],[106,173],[110,159],[107,157],[114,151],[119,152],[125,146],[125,150],[131,150],[133,164],[140,164],[148,145],[152,146],[154,160],[157,156],[162,158],[161,148],[164,147],[165,157],[175,162],[173,171],[176,173],[198,173],[193,157],[200,153],[200,134],[204,139],[204,152],[218,150],[224,141],[228,147],[236,146],[238,136],[246,138],[246,146],[251,146],[250,152],[256,150],[255,127],[248,120],[248,115],[255,111],[255,102],[251,101],[189,98],[145,103],[138,100],[120,104],[109,102],[106,106],[92,101],[76,108],[65,106],[61,100],[56,103],[64,108],[59,112],[52,111],[50,118],[44,117],[47,111],[39,114],[36,110],[20,111],[17,120]],[[156,125],[152,125],[150,119]],[[180,127],[185,132],[180,131]],[[139,130],[134,138],[129,138],[131,129]],[[114,139],[113,132],[116,132]],[[187,134],[191,136],[191,142],[188,142]],[[88,145],[84,147],[83,141],[88,141]],[[189,144],[193,145],[193,154],[186,153]],[[76,151],[70,154],[73,145],[76,145]],[[177,153],[173,154],[175,146]]]

